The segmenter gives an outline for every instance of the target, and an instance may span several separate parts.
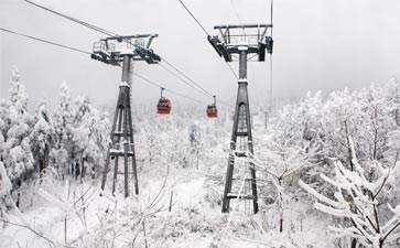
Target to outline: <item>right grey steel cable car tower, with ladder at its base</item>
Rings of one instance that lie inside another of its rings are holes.
[[[219,35],[208,35],[208,42],[226,62],[239,62],[239,86],[235,107],[234,128],[230,140],[228,169],[223,198],[223,213],[230,212],[230,200],[245,200],[245,208],[252,201],[252,211],[258,213],[258,196],[255,164],[249,158],[253,154],[249,97],[247,91],[247,62],[264,62],[266,50],[272,53],[272,24],[216,25]],[[268,32],[269,31],[269,32]],[[252,56],[249,56],[253,54]],[[241,161],[240,161],[241,160]],[[244,173],[249,173],[249,176]],[[234,177],[234,174],[236,177]],[[240,175],[241,174],[241,175]],[[245,192],[239,192],[241,179]],[[237,181],[234,183],[234,180]],[[251,192],[250,192],[251,190]]]

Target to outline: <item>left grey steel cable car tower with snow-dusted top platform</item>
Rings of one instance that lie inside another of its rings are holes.
[[[129,196],[129,184],[133,181],[134,193],[139,194],[138,171],[134,154],[133,126],[131,112],[131,78],[133,61],[145,61],[156,64],[161,57],[150,48],[158,34],[137,34],[128,36],[110,36],[94,43],[91,58],[106,64],[121,66],[122,79],[113,116],[110,143],[102,172],[101,190],[105,190],[110,162],[113,160],[112,194],[116,191],[118,174],[123,174],[125,197]],[[116,48],[116,42],[118,48]],[[119,158],[123,158],[123,169],[119,170]]]

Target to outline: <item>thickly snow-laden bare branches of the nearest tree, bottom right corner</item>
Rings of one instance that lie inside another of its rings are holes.
[[[353,170],[345,168],[340,161],[335,162],[335,177],[331,179],[321,174],[322,180],[335,188],[334,198],[318,193],[316,190],[300,181],[300,185],[317,202],[314,207],[323,213],[343,219],[348,219],[350,225],[336,225],[332,229],[339,236],[352,237],[359,244],[370,248],[382,248],[386,244],[399,238],[400,235],[400,204],[392,207],[390,217],[387,216],[382,195],[387,194],[388,185],[396,181],[399,174],[397,159],[391,165],[383,166],[375,161],[370,166],[375,176],[361,165],[355,154],[352,138],[349,138],[353,153]]]

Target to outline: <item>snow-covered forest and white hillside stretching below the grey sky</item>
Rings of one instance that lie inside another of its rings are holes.
[[[56,106],[43,98],[30,111],[22,78],[15,68],[0,101],[0,247],[400,246],[396,78],[309,93],[273,109],[267,129],[251,106],[257,215],[246,201],[220,212],[231,112],[133,107],[142,190],[125,198],[122,182],[100,190],[112,108],[62,83]]]

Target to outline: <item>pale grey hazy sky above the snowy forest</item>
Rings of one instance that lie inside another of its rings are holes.
[[[205,34],[177,0],[36,0],[104,29],[136,34],[155,32],[153,48],[190,77],[230,104],[237,82]],[[185,0],[212,34],[215,24],[269,22],[270,1]],[[400,75],[399,0],[274,0],[273,97],[295,99],[307,90],[358,89]],[[32,7],[0,0],[0,26],[90,52],[104,35]],[[0,31],[0,98],[8,94],[13,66],[22,74],[30,106],[46,97],[53,107],[65,80],[73,96],[115,105],[120,68],[89,56]],[[233,63],[237,71],[237,63]],[[210,101],[160,66],[136,63],[136,72],[166,88]],[[266,103],[269,60],[248,66],[252,105]],[[159,89],[133,79],[134,101],[155,103]],[[172,99],[179,97],[170,95]],[[181,100],[186,103],[185,100]],[[191,103],[191,101],[187,101]]]

